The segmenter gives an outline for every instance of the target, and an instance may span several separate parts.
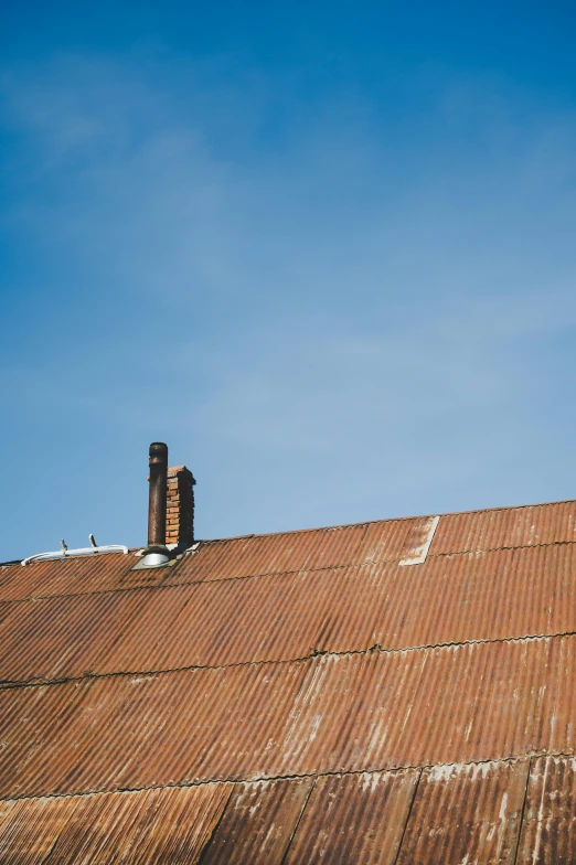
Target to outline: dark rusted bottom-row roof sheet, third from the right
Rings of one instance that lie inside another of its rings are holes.
[[[395,865],[418,776],[407,770],[319,778],[286,865]]]

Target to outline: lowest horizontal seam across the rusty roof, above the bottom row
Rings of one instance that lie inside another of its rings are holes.
[[[236,783],[258,783],[260,781],[290,781],[300,780],[301,778],[342,778],[355,775],[392,775],[396,772],[405,772],[410,769],[427,771],[429,769],[440,768],[455,768],[463,769],[469,766],[487,766],[489,763],[514,763],[521,760],[531,760],[534,757],[553,757],[553,758],[569,758],[574,757],[575,751],[547,751],[534,750],[525,751],[524,754],[514,754],[509,757],[498,757],[491,760],[470,760],[469,762],[437,762],[437,763],[406,763],[405,766],[394,766],[392,768],[382,769],[354,769],[352,771],[332,771],[332,772],[302,772],[301,775],[294,775],[287,772],[286,775],[263,775],[257,778],[210,778],[202,781],[191,781],[190,783],[167,783],[167,784],[152,784],[151,787],[119,787],[110,790],[85,790],[82,793],[45,793],[44,795],[14,795],[14,797],[0,797],[0,802],[20,802],[20,801],[35,801],[38,799],[84,799],[87,795],[109,795],[110,793],[139,793],[146,790],[184,790],[195,787],[206,787],[207,784],[236,784]]]

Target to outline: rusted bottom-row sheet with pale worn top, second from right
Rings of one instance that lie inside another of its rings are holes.
[[[527,768],[519,760],[425,769],[398,865],[513,865]]]

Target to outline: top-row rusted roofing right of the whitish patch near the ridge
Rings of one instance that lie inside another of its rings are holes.
[[[576,541],[576,501],[447,514],[430,554]]]

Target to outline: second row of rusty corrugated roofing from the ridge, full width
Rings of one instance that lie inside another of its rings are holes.
[[[574,632],[575,574],[567,544],[9,602],[0,679]]]

